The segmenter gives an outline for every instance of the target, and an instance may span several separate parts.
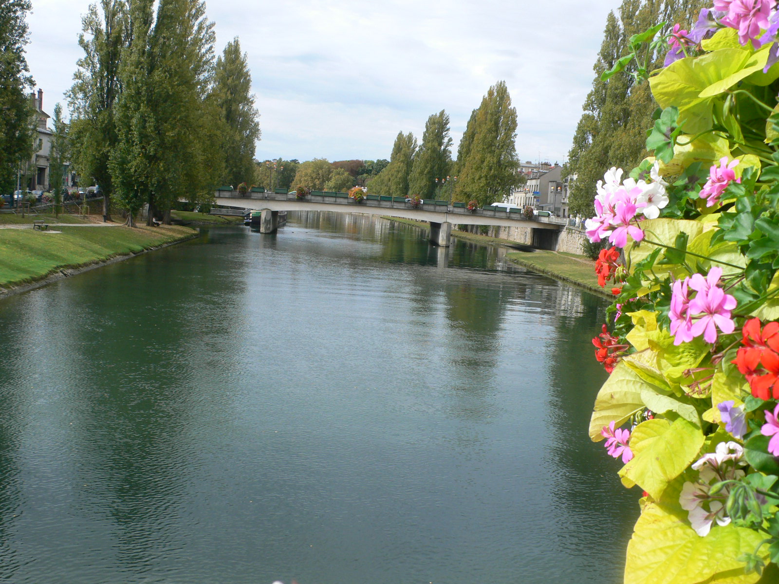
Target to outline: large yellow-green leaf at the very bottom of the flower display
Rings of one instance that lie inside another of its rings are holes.
[[[763,536],[752,529],[715,522],[706,537],[689,525],[679,505],[684,481],[675,480],[662,501],[650,501],[636,522],[627,550],[624,584],[753,584],[742,554],[752,554]],[[759,555],[767,558],[763,548]]]

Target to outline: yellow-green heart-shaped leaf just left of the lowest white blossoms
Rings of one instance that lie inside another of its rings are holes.
[[[619,470],[619,476],[659,499],[668,483],[697,458],[704,439],[700,428],[682,417],[673,424],[661,418],[641,422],[630,435],[633,459]]]

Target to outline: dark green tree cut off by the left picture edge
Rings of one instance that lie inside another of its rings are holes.
[[[33,154],[33,79],[24,57],[29,11],[29,0],[0,2],[0,192],[15,188],[20,164]]]

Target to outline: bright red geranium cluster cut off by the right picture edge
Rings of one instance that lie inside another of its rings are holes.
[[[752,395],[779,399],[779,322],[760,329],[760,319],[750,318],[742,328],[743,347],[732,361],[746,377]]]

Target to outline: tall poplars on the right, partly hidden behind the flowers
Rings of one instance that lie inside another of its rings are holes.
[[[630,73],[635,70],[635,62],[608,80],[602,80],[601,75],[629,53],[633,34],[649,29],[658,19],[667,22],[667,28],[674,23],[693,23],[700,9],[709,4],[703,0],[623,0],[616,14],[608,13],[603,43],[593,66],[592,90],[584,101],[565,169],[566,176],[576,175],[569,195],[570,213],[590,216],[595,184],[605,171],[610,167],[629,170],[648,155],[644,148],[646,128],[652,125],[657,107],[649,84],[634,83]],[[664,53],[652,55],[654,67],[649,69],[662,65]]]

